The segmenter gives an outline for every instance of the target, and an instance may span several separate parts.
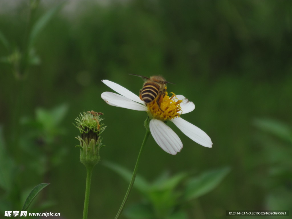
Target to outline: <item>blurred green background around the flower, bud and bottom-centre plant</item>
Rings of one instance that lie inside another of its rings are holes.
[[[73,3],[1,5],[0,218],[20,211],[39,183],[51,185],[28,212],[82,217],[86,171],[72,122],[84,110],[104,113],[102,161],[134,168],[146,114],[100,98],[111,91],[102,79],[138,94],[143,81],[129,73],[173,82],[168,91],[196,105],[183,118],[213,142],[204,148],[171,126],[183,149],[172,156],[150,137],[139,175],[151,181],[165,171],[231,168],[188,206],[189,218],[225,218],[226,210],[292,213],[292,1]],[[98,164],[88,218],[114,218],[127,186]],[[133,190],[128,206],[140,200]]]

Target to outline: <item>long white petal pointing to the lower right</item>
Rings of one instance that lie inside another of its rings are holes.
[[[172,121],[187,137],[197,142],[204,147],[212,147],[213,143],[211,138],[200,128],[192,123],[185,121],[182,118],[175,118]]]

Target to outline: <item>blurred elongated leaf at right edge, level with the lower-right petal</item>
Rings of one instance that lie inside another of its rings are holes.
[[[292,128],[273,119],[255,119],[253,124],[263,131],[276,135],[285,141],[292,142]]]

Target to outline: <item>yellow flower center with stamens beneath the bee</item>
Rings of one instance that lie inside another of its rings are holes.
[[[167,92],[165,92],[165,96],[160,104],[159,101],[157,102],[157,98],[159,97],[147,104],[150,118],[167,121],[180,117],[180,114],[182,114],[182,109],[180,107],[182,100],[178,100],[174,93],[171,94],[172,96],[169,97]]]

